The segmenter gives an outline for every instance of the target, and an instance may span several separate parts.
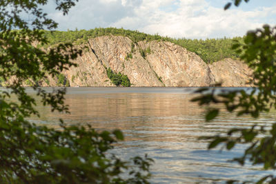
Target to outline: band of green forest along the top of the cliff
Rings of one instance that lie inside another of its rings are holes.
[[[242,40],[241,37],[236,37],[233,39],[172,39],[170,37],[161,37],[158,34],[151,35],[142,32],[124,30],[123,28],[95,28],[93,30],[68,30],[67,32],[62,31],[44,31],[44,35],[50,41],[48,45],[53,45],[57,43],[86,43],[88,38],[101,37],[106,35],[116,35],[128,37],[132,40],[132,51],[134,49],[134,44],[138,41],[170,41],[181,47],[187,48],[191,52],[195,52],[201,57],[206,63],[213,63],[215,61],[220,61],[225,58],[237,59],[239,54],[231,50],[233,45],[233,40]],[[47,45],[46,45],[47,46]],[[128,57],[130,58],[130,57]]]

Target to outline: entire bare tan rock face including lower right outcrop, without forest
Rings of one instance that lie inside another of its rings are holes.
[[[88,40],[83,55],[63,72],[66,83],[76,86],[115,86],[106,69],[126,74],[132,86],[199,87],[222,82],[222,86],[248,86],[252,73],[241,61],[225,59],[207,65],[197,54],[174,43],[140,41],[128,37],[105,36]],[[78,47],[80,47],[78,45]],[[64,85],[48,77],[42,86]]]

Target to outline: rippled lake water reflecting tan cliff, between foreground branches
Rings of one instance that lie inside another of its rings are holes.
[[[46,88],[51,90],[51,88]],[[260,167],[240,167],[229,159],[240,156],[242,146],[230,152],[206,150],[199,136],[226,132],[230,127],[274,123],[275,114],[260,119],[222,112],[212,123],[204,121],[204,108],[191,103],[195,88],[68,88],[71,114],[50,113],[39,105],[39,123],[55,126],[89,123],[99,130],[119,128],[126,141],[114,152],[123,159],[148,154],[155,160],[152,183],[213,183],[228,179],[253,180],[267,174]],[[232,90],[232,89],[228,89]],[[31,92],[29,90],[29,92]]]

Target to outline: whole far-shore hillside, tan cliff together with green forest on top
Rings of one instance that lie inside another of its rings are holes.
[[[42,32],[49,43],[37,46],[47,50],[69,42],[83,54],[74,61],[78,67],[28,79],[25,86],[239,87],[248,86],[252,73],[230,49],[233,39],[171,39],[116,28]],[[0,79],[0,84],[12,80]]]

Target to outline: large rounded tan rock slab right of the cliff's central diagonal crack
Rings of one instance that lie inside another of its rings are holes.
[[[140,43],[150,48],[146,60],[166,86],[209,86],[215,82],[208,65],[193,52],[170,42]]]

